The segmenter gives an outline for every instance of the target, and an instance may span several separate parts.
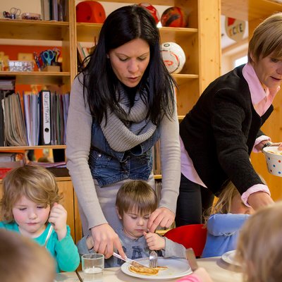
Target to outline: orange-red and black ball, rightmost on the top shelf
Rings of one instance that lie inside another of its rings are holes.
[[[188,16],[182,8],[170,7],[161,15],[161,25],[163,27],[187,27]]]

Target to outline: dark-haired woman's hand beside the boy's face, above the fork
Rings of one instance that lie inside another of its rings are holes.
[[[163,228],[168,228],[173,223],[176,214],[171,212],[170,209],[166,207],[159,207],[149,217],[149,221],[147,223],[147,228],[149,232],[154,233],[158,226]]]

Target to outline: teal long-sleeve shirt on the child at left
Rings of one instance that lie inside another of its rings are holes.
[[[51,224],[48,223],[45,231],[39,235],[39,237],[32,239],[43,246],[50,226]],[[0,221],[0,228],[20,233],[16,222],[5,223],[4,221]],[[69,226],[67,226],[66,237],[62,240],[58,239],[58,235],[54,230],[51,232],[51,236],[47,243],[47,250],[49,250],[54,259],[56,259],[57,272],[75,271],[75,269],[78,268],[78,265],[80,264],[80,256],[78,254],[78,248],[75,246],[73,238],[71,237],[71,228]]]

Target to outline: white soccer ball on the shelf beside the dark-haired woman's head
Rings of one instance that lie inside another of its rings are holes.
[[[161,44],[161,56],[169,73],[180,73],[186,61],[183,49],[175,42]]]

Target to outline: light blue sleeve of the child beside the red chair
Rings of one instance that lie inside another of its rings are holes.
[[[214,236],[232,235],[250,217],[250,214],[212,214],[207,221],[207,231]]]

